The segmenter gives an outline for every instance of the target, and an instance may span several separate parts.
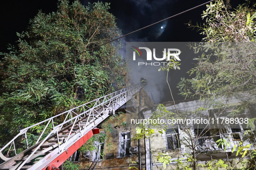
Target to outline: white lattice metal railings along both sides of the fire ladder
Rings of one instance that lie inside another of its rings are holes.
[[[26,140],[26,150],[29,149],[29,143],[27,138],[27,132],[29,130],[35,127],[35,126],[45,126],[43,131],[41,132],[39,138],[36,140],[37,147],[36,149],[33,149],[32,153],[19,165],[17,170],[20,170],[21,167],[26,164],[26,162],[30,161],[32,158],[35,157],[36,151],[39,150],[39,148],[42,146],[44,142],[46,142],[48,139],[51,139],[52,135],[57,136],[57,144],[53,145],[52,148],[43,150],[43,153],[46,153],[49,150],[52,150],[53,148],[58,147],[58,153],[62,153],[65,150],[65,146],[70,143],[71,140],[71,132],[74,129],[75,125],[78,125],[79,127],[79,136],[82,137],[85,135],[84,133],[92,128],[97,126],[99,121],[96,121],[97,119],[100,119],[100,122],[107,118],[111,113],[114,114],[115,110],[117,110],[119,107],[121,107],[123,104],[126,103],[126,101],[130,100],[134,94],[136,94],[141,88],[143,88],[146,85],[146,83],[139,83],[133,86],[129,86],[127,88],[124,88],[120,91],[115,91],[111,94],[107,94],[104,97],[97,98],[94,101],[90,101],[86,104],[82,104],[81,106],[75,107],[73,109],[67,110],[63,113],[60,113],[56,116],[52,116],[49,119],[46,119],[42,122],[36,123],[32,126],[29,126],[25,129],[20,130],[19,134],[16,135],[10,142],[8,142],[3,148],[0,149],[0,156],[3,159],[3,161],[8,161],[13,157],[5,157],[1,153],[6,148],[8,149],[8,146],[14,147],[13,151],[16,154],[16,147],[14,140],[20,137],[21,135],[25,135]],[[65,116],[65,120],[62,123],[55,123],[54,119],[61,118],[61,116]],[[85,124],[80,124],[81,122],[86,122]],[[50,126],[51,125],[51,126]],[[68,133],[68,136],[65,139],[59,138],[59,133],[62,132],[64,129],[67,129],[67,126],[71,126],[71,129]],[[48,128],[48,129],[47,129]],[[50,132],[49,132],[50,131]],[[46,137],[43,139],[42,136]],[[72,139],[74,141],[74,139]],[[63,141],[62,143],[60,141]],[[33,146],[35,146],[33,145]],[[32,147],[30,147],[32,148]],[[10,150],[10,149],[9,149]],[[24,151],[23,151],[24,152]],[[22,153],[23,153],[22,152]],[[15,156],[14,156],[15,157]],[[4,164],[4,163],[3,163]]]

